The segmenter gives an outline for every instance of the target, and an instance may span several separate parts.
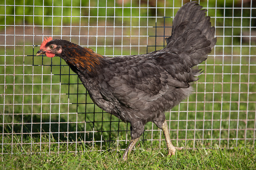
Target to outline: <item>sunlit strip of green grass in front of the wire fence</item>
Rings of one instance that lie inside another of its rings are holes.
[[[89,148],[90,149],[90,148]],[[85,151],[41,154],[1,155],[2,169],[255,169],[255,150],[184,149],[169,157],[166,150],[144,149],[141,146],[122,161],[123,151]]]

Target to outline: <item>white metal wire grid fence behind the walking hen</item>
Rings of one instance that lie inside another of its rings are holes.
[[[106,56],[162,49],[188,1],[73,0],[0,2],[0,153],[125,149],[130,125],[105,113],[59,57],[35,56],[44,37]],[[217,44],[195,92],[166,112],[174,145],[255,148],[256,2],[199,1]],[[147,123],[146,148],[165,148]]]

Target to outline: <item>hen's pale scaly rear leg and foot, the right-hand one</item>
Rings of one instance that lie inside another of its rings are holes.
[[[175,147],[172,142],[170,141],[169,131],[168,131],[168,125],[166,120],[164,120],[164,123],[162,124],[162,130],[165,137],[166,145],[168,148],[168,154],[169,156],[172,156],[175,154],[176,150],[182,150],[183,147]]]

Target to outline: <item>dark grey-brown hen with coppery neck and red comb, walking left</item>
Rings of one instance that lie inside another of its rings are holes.
[[[131,141],[123,159],[133,149],[147,122],[163,130],[168,155],[182,147],[170,141],[165,111],[192,92],[192,82],[202,74],[194,68],[207,59],[216,44],[215,28],[196,2],[185,4],[173,21],[167,46],[148,54],[106,57],[65,40],[44,39],[37,56],[65,60],[100,108],[130,123]]]

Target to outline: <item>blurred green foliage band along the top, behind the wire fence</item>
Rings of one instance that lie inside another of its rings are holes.
[[[252,3],[241,0],[199,1],[205,9],[209,7],[207,15],[212,17],[211,22],[216,26],[216,35],[223,35],[223,38],[218,39],[217,45],[240,45],[241,35],[250,32],[249,26],[256,26],[256,19],[251,18],[256,16],[256,11],[250,9],[251,4],[254,7],[256,1],[251,1]],[[2,1],[0,30],[4,30],[5,25],[53,27],[107,23],[115,26],[148,26],[146,23],[156,22],[155,16],[173,18],[179,8],[187,2],[189,1]],[[164,20],[157,19],[157,23],[163,22]]]

